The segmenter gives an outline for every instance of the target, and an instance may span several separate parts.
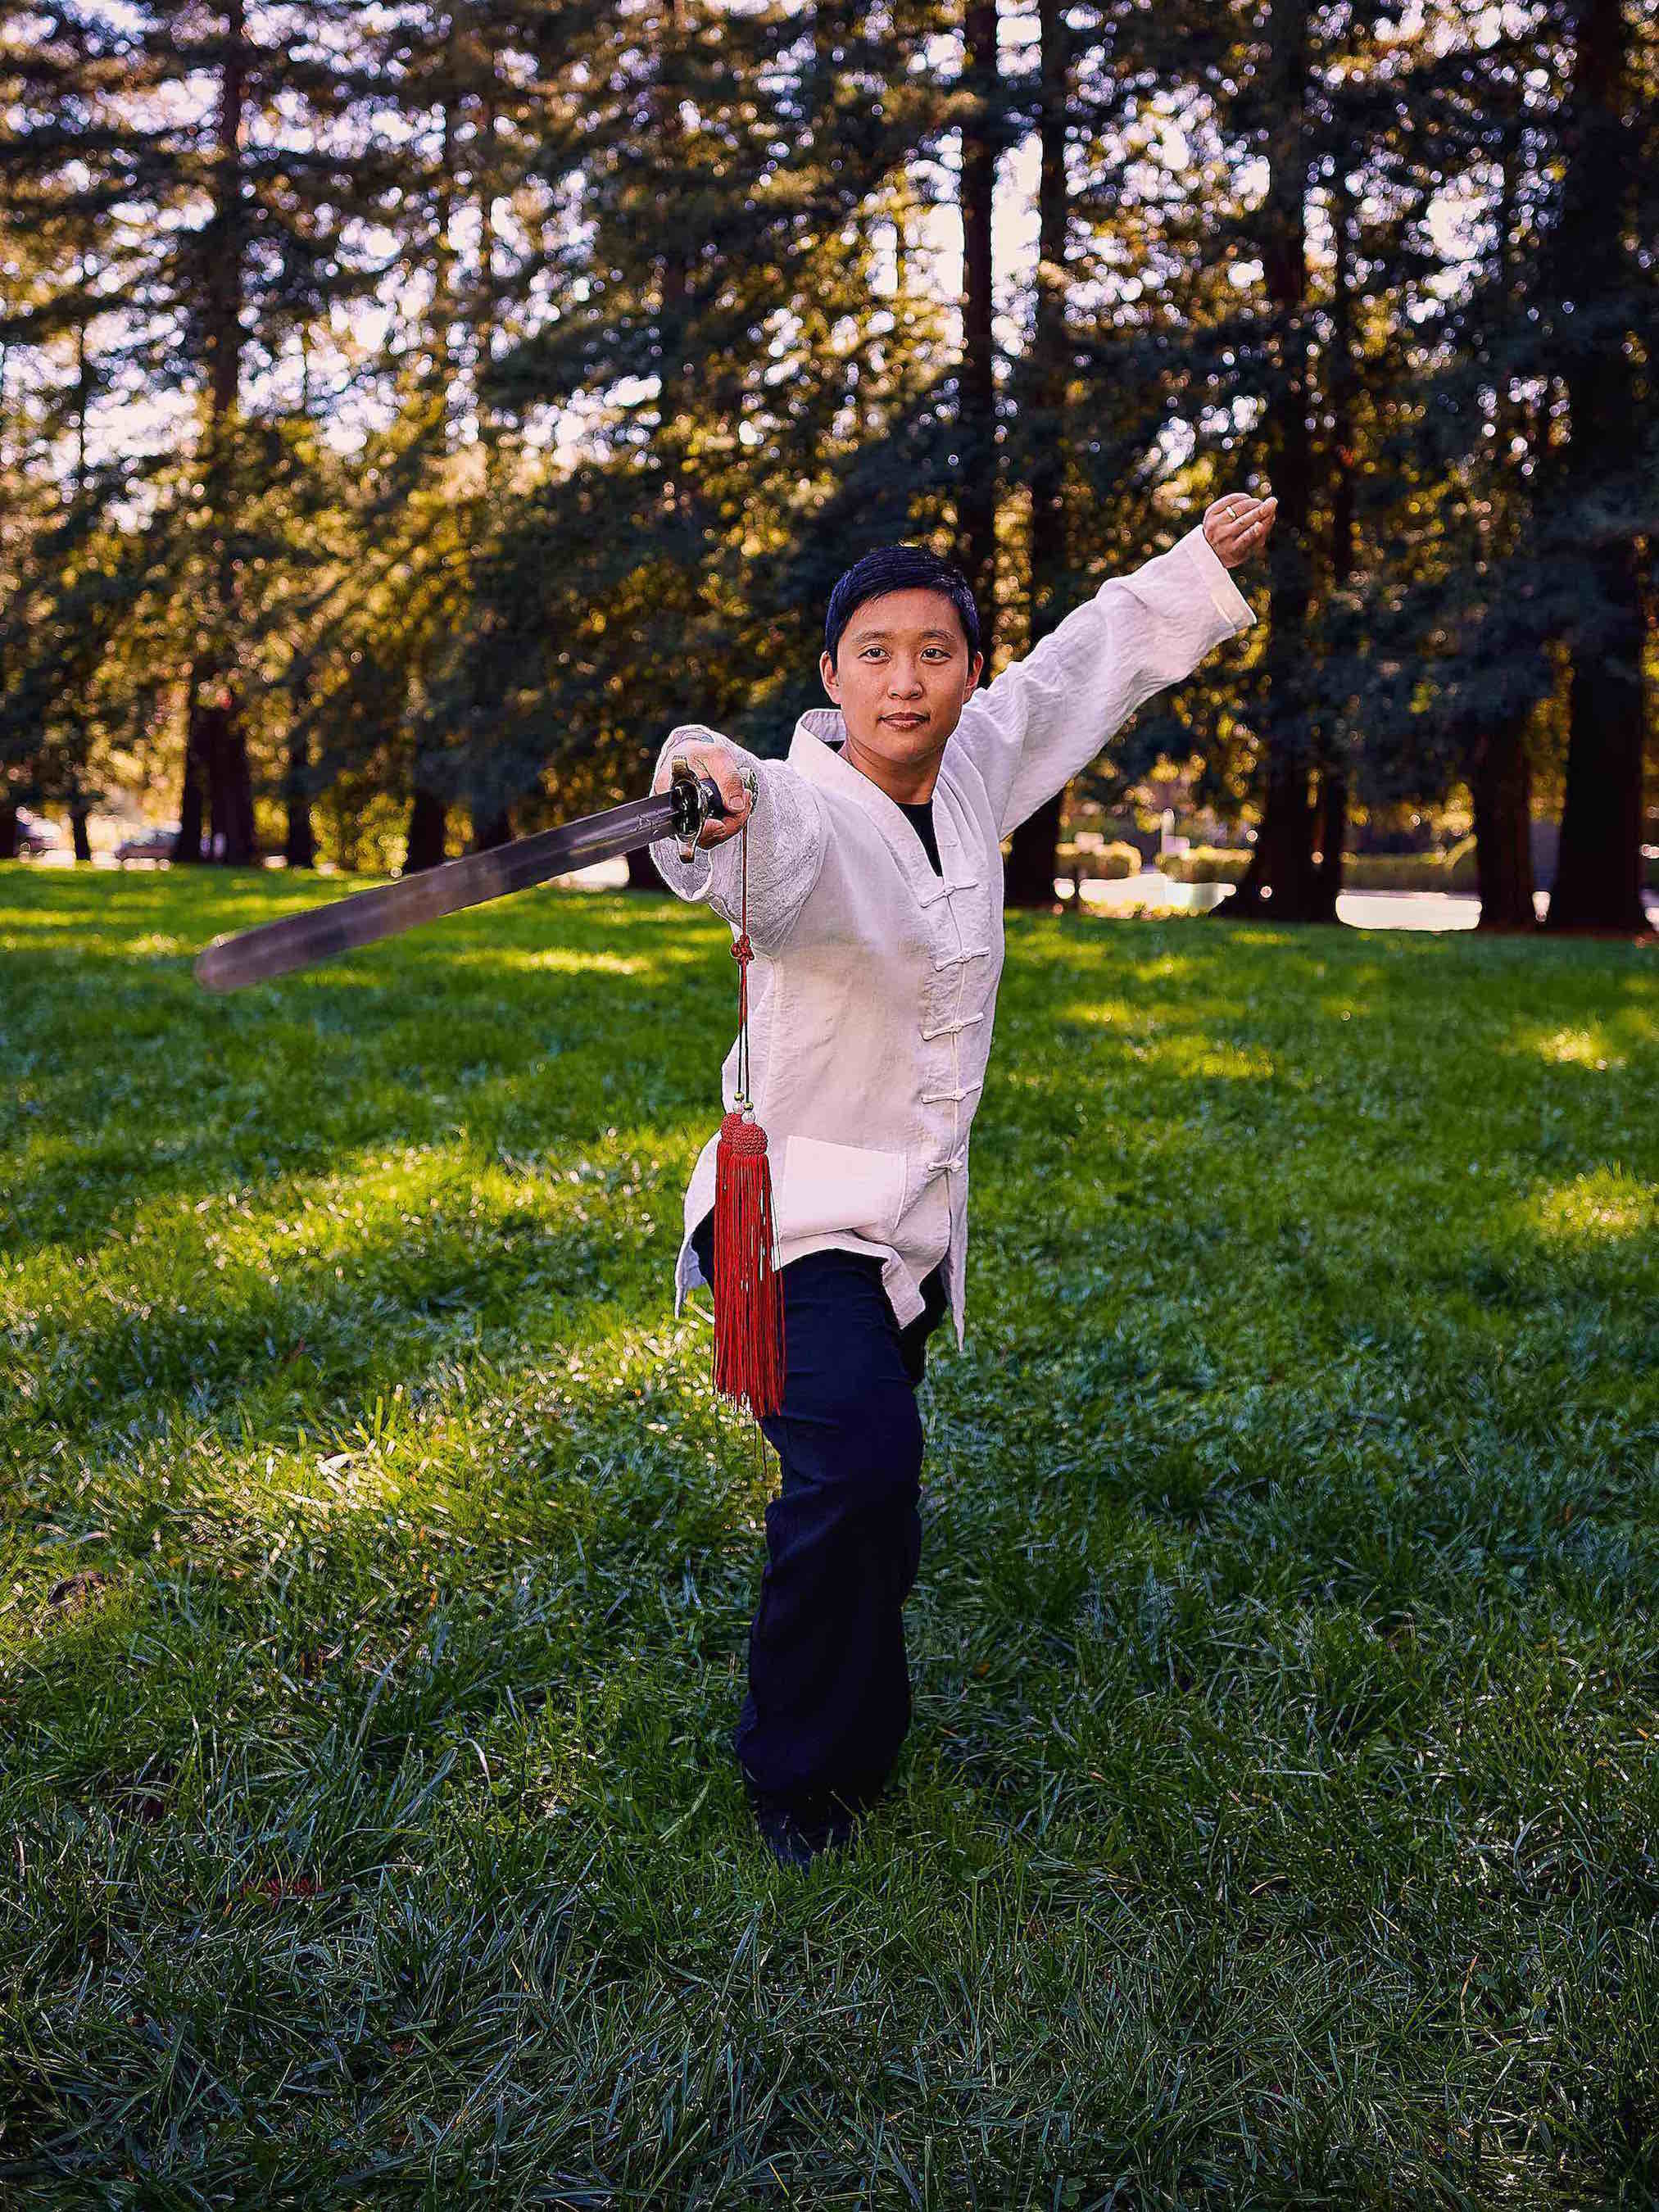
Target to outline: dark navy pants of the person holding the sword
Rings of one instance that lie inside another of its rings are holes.
[[[714,1217],[692,1230],[712,1283]],[[761,1431],[783,1467],[765,1509],[750,1686],[732,1750],[765,1801],[869,1805],[909,1730],[902,1604],[922,1555],[916,1385],[945,1314],[945,1267],[900,1329],[867,1252],[783,1270],[783,1409]]]

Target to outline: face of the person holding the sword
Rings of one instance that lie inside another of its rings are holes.
[[[969,657],[962,617],[942,591],[914,586],[865,599],[821,655],[823,688],[847,723],[854,759],[896,776],[925,770],[973,697],[984,657]]]

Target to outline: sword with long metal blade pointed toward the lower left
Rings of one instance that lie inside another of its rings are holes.
[[[416,922],[436,922],[442,914],[478,907],[487,898],[529,891],[531,885],[564,876],[573,867],[639,852],[641,845],[664,836],[679,838],[679,856],[690,860],[703,823],[723,816],[726,803],[714,779],[695,774],[675,757],[668,790],[650,799],[630,799],[622,807],[584,814],[560,830],[513,838],[493,852],[469,852],[465,860],[445,860],[396,883],[376,883],[369,891],[354,891],[310,914],[283,914],[276,922],[215,938],[197,956],[197,982],[208,991],[239,991],[248,982],[265,982],[270,975],[288,975],[334,953],[356,951],[358,945],[396,938]]]

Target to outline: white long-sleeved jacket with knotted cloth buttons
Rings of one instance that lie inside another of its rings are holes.
[[[677,745],[706,739],[759,785],[748,827],[750,1093],[781,1267],[825,1245],[869,1252],[902,1327],[945,1259],[962,1347],[969,1128],[1002,975],[1002,838],[1152,692],[1254,619],[1203,524],[1133,575],[1108,577],[962,708],[933,785],[942,876],[887,792],[841,757],[838,708],[803,714],[785,761],[703,723],[668,734],[657,770]],[[650,858],[670,891],[708,900],[737,938],[741,847],[734,836],[681,860],[661,838]],[[732,1040],[721,1066],[728,1113],[737,1051]],[[717,1144],[719,1128],[686,1188],[675,1314],[706,1281],[690,1232],[714,1203]]]

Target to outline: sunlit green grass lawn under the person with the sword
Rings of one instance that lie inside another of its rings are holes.
[[[801,1874],[672,1318],[730,936],[197,989],[325,896],[0,869],[0,2201],[1652,2201],[1655,953],[1011,925]]]

